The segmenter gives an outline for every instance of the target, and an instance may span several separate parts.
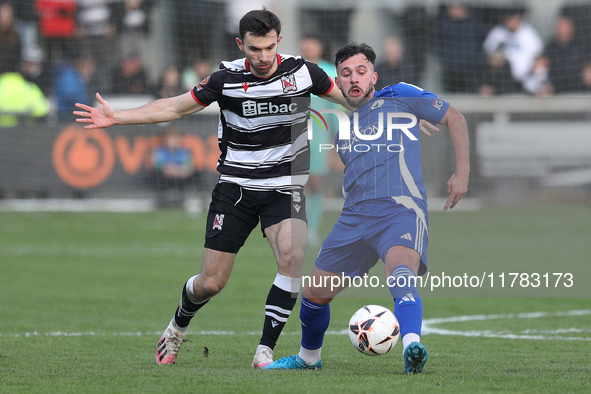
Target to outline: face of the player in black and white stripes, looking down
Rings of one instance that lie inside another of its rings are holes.
[[[250,70],[261,78],[266,78],[277,70],[277,46],[281,36],[272,30],[266,36],[255,36],[246,33],[244,40],[236,38],[236,43],[241,51],[244,51]]]

